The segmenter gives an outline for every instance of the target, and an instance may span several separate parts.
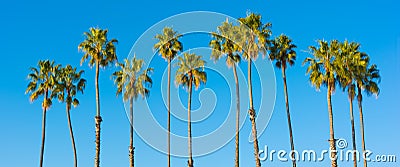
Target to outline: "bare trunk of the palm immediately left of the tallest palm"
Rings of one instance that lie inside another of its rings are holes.
[[[239,121],[240,121],[240,95],[239,95],[239,79],[236,72],[236,64],[233,65],[233,76],[236,84],[236,140],[235,140],[235,167],[239,167]]]

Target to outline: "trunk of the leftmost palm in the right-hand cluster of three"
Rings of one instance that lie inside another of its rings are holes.
[[[335,145],[335,133],[333,130],[333,112],[332,112],[332,87],[331,83],[328,83],[328,92],[327,92],[327,98],[328,98],[328,115],[329,115],[329,144],[330,144],[330,152],[331,152],[331,163],[332,167],[337,167],[337,152],[336,152],[336,145]]]

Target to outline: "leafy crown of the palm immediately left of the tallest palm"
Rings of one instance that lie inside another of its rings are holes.
[[[239,35],[239,27],[233,26],[228,21],[223,22],[218,26],[218,31],[212,33],[213,40],[210,41],[211,59],[218,61],[222,56],[226,55],[226,65],[232,67],[234,64],[240,62],[238,54],[239,45],[236,43]]]

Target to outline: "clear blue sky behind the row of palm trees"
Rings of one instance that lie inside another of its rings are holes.
[[[395,154],[400,156],[400,144],[397,133],[399,124],[397,89],[400,84],[400,4],[395,0],[355,0],[355,1],[7,1],[0,7],[1,26],[0,50],[2,81],[0,82],[0,166],[20,167],[36,166],[39,161],[41,143],[41,102],[30,103],[24,94],[28,80],[26,75],[30,66],[38,60],[52,59],[61,64],[79,66],[82,53],[77,45],[84,39],[83,32],[89,27],[99,26],[109,29],[109,37],[117,38],[118,58],[126,58],[139,36],[157,22],[183,12],[212,11],[235,18],[244,17],[246,11],[260,13],[264,22],[272,22],[273,36],[285,33],[293,38],[298,46],[296,65],[287,71],[289,97],[292,112],[292,124],[296,148],[322,150],[328,148],[329,122],[326,107],[326,90],[315,91],[307,81],[305,67],[301,62],[310,56],[304,52],[317,39],[338,39],[357,41],[361,50],[367,52],[371,61],[381,70],[381,94],[365,97],[365,134],[367,148],[375,154]],[[193,20],[196,21],[196,20]],[[208,38],[202,36],[184,40],[185,49],[207,46]],[[155,41],[154,41],[155,42]],[[207,57],[208,55],[204,55]],[[150,96],[153,113],[163,126],[166,122],[166,109],[161,101],[161,74],[157,69],[165,69],[167,64],[161,58],[153,59],[156,67],[155,85]],[[258,61],[265,61],[259,59]],[[212,62],[209,62],[212,63]],[[241,68],[245,70],[245,63]],[[93,165],[95,89],[94,70],[86,64],[79,67],[85,70],[88,80],[84,95],[79,95],[81,105],[71,111],[75,130],[80,166]],[[121,98],[115,97],[115,86],[110,74],[115,68],[103,70],[100,74],[102,105],[102,166],[127,166],[129,145],[129,122],[125,115]],[[244,71],[246,75],[246,72]],[[210,74],[210,77],[213,76]],[[276,105],[268,127],[259,138],[260,148],[268,145],[269,149],[289,150],[286,115],[281,73],[276,71]],[[217,89],[223,81],[215,77],[207,87]],[[211,78],[210,78],[211,80]],[[260,97],[259,82],[255,82],[255,98]],[[173,88],[175,89],[175,88]],[[224,92],[222,92],[223,95]],[[182,103],[186,104],[185,92]],[[242,89],[242,95],[246,95]],[[197,99],[198,94],[194,94]],[[221,101],[226,99],[221,99]],[[346,95],[337,91],[333,96],[335,133],[337,138],[351,139],[348,101]],[[245,103],[247,104],[247,103]],[[194,100],[194,107],[199,101]],[[218,105],[218,103],[217,103]],[[259,103],[256,105],[260,105]],[[246,106],[244,106],[246,108]],[[357,105],[355,122],[359,124]],[[48,112],[45,166],[72,166],[73,157],[68,133],[64,104],[54,102]],[[222,108],[223,109],[223,108]],[[140,108],[137,109],[140,111]],[[226,113],[225,113],[226,114]],[[214,117],[213,117],[214,116]],[[210,117],[209,123],[199,122],[193,125],[196,135],[207,134],[209,129],[218,127],[224,119],[224,113]],[[215,117],[217,116],[217,117]],[[173,120],[176,133],[185,135],[186,124]],[[233,127],[232,127],[233,128]],[[250,123],[246,119],[241,131],[241,164],[254,166],[252,144],[247,142]],[[359,128],[356,127],[357,140],[360,141]],[[160,138],[164,140],[164,138]],[[166,155],[156,151],[135,136],[136,165],[163,166],[167,163]],[[186,143],[182,143],[186,145]],[[360,149],[360,142],[357,143]],[[201,146],[197,146],[201,147]],[[233,166],[234,141],[212,154],[195,157],[196,166]],[[329,161],[321,163],[300,162],[301,166],[328,166]],[[172,166],[185,166],[186,158],[172,159]],[[289,162],[265,161],[266,166],[289,166]],[[299,166],[300,166],[299,165]],[[341,166],[351,162],[339,162]],[[361,165],[361,163],[360,163]],[[396,163],[370,163],[370,166],[400,166]]]

